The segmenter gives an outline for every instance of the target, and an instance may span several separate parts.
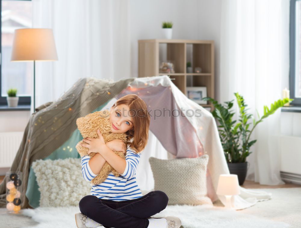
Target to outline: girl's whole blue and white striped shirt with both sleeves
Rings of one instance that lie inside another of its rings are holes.
[[[90,195],[95,195],[100,199],[110,199],[114,201],[131,200],[140,198],[142,195],[138,184],[136,183],[136,169],[139,163],[141,152],[135,153],[134,150],[128,147],[126,150],[126,169],[123,173],[119,173],[119,177],[109,173],[106,180],[98,185],[92,185]],[[86,181],[97,176],[92,172],[89,166],[89,155],[82,157],[82,176]]]

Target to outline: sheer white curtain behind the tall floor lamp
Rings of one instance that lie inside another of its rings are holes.
[[[82,77],[130,77],[128,0],[33,0],[33,28],[53,30],[58,55],[36,62],[36,107]]]

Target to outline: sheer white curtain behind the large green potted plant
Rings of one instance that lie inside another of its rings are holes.
[[[221,17],[220,102],[243,95],[258,120],[263,105],[282,98],[289,73],[289,0],[223,0]],[[239,113],[238,108],[235,109]],[[259,123],[247,161],[248,180],[284,184],[280,178],[280,109]],[[233,116],[237,120],[238,115]],[[253,125],[252,125],[253,126]]]

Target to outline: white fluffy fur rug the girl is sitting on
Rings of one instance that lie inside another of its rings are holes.
[[[27,210],[27,211],[26,211]],[[36,210],[26,209],[25,214],[32,216],[40,224],[35,227],[76,227],[74,214],[79,212],[76,207],[69,208],[37,208]],[[210,208],[205,205],[200,206],[179,206],[171,205],[165,208],[154,217],[177,216],[182,221],[184,228],[200,227],[289,227],[287,223],[276,222],[253,215],[242,214],[239,211],[228,211],[221,208]],[[22,226],[22,228],[28,226]],[[29,226],[32,227],[32,226]],[[101,226],[100,226],[101,227]]]

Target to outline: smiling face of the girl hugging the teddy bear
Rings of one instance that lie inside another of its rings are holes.
[[[125,133],[133,128],[133,118],[130,116],[129,106],[125,104],[111,107],[110,110],[111,131],[113,133]]]

